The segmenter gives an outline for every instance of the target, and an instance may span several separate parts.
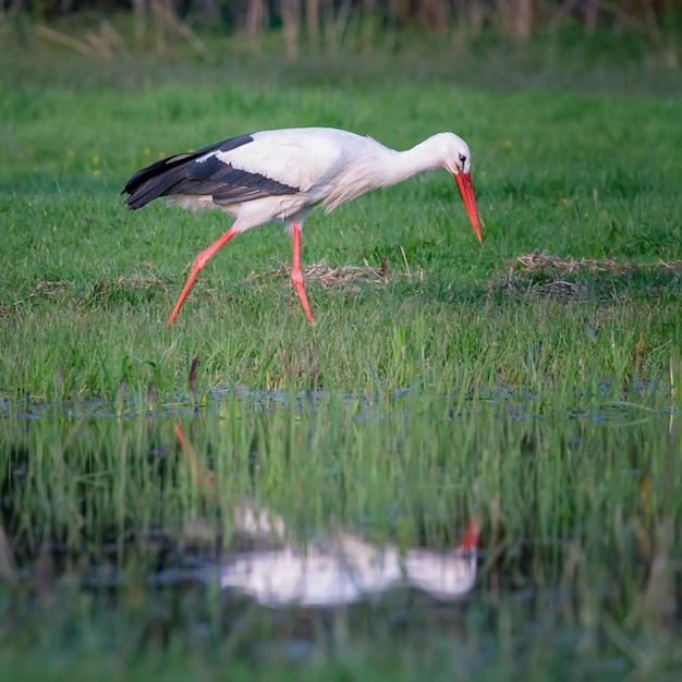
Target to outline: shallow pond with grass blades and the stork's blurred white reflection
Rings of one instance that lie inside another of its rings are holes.
[[[507,389],[7,409],[0,649],[677,679],[679,419]]]

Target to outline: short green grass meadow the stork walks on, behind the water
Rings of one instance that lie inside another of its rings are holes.
[[[525,373],[525,351],[540,341],[544,357],[562,353],[543,379],[564,381],[583,355],[581,372],[601,379],[614,368],[581,332],[585,317],[602,332],[607,355],[632,360],[643,343],[647,376],[660,376],[679,350],[678,98],[478,92],[442,78],[372,89],[196,86],[188,77],[34,89],[23,80],[3,90],[10,229],[1,245],[0,386],[12,401],[51,400],[58,369],[63,395],[110,400],[122,377],[154,379],[170,395],[195,354],[207,387],[308,387],[306,363],[316,365],[316,380],[339,389],[460,383],[449,373],[463,368],[484,383],[500,370],[514,381]],[[483,247],[454,183],[434,172],[310,217],[304,263],[388,264],[375,284],[331,278],[324,290],[309,281],[315,329],[297,314],[287,276],[273,275],[291,246],[270,226],[218,254],[166,330],[186,266],[228,221],[162,203],[131,214],[119,196],[123,183],[161,155],[296,124],[345,126],[395,147],[455,130],[473,149]],[[535,249],[635,269],[570,273],[585,285],[559,300],[534,283],[535,275],[543,284],[565,279],[561,272],[520,275],[526,281],[509,288],[515,259]],[[535,328],[545,325],[540,338]]]

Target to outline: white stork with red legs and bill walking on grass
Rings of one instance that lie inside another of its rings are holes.
[[[131,209],[160,197],[186,208],[220,208],[232,227],[194,260],[168,319],[172,322],[208,259],[235,234],[281,220],[292,234],[291,280],[308,322],[313,315],[301,273],[301,229],[310,210],[326,212],[356,196],[442,167],[454,176],[474,233],[480,227],[471,180],[471,153],[453,133],[439,133],[406,151],[370,137],[329,127],[261,131],[231,137],[198,151],[178,154],[137,171],[123,193]]]

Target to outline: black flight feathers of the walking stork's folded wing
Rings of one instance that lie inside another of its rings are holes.
[[[216,204],[227,205],[273,194],[295,194],[295,187],[235,169],[215,156],[197,161],[211,151],[229,151],[249,142],[253,142],[251,135],[240,135],[197,151],[161,159],[137,171],[121,194],[130,195],[125,203],[131,209],[170,195],[212,196]]]

